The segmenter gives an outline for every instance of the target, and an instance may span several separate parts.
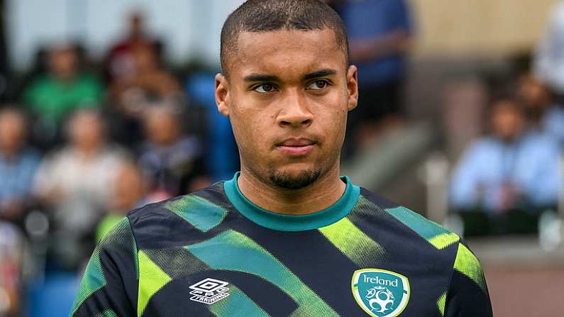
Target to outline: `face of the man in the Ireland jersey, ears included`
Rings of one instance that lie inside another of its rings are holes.
[[[216,77],[242,169],[277,187],[306,187],[338,172],[348,111],[358,99],[333,30],[244,32]]]

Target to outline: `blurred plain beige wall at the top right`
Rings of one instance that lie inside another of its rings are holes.
[[[558,0],[411,0],[416,55],[507,55],[531,48]]]

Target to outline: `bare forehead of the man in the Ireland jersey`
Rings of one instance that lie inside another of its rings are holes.
[[[319,69],[345,69],[345,53],[333,30],[242,32],[230,57],[233,77],[251,73],[300,76]]]

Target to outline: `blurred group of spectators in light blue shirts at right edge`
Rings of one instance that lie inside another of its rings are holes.
[[[563,210],[563,36],[560,2],[536,48],[485,80],[485,132],[464,150],[449,187],[467,235],[537,233],[543,215]]]

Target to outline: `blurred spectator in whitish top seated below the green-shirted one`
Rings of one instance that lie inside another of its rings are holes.
[[[108,209],[112,183],[123,153],[104,139],[104,124],[94,110],[74,113],[67,125],[68,145],[46,158],[34,190],[55,221],[55,250],[64,265],[77,265],[91,252],[80,245]]]

